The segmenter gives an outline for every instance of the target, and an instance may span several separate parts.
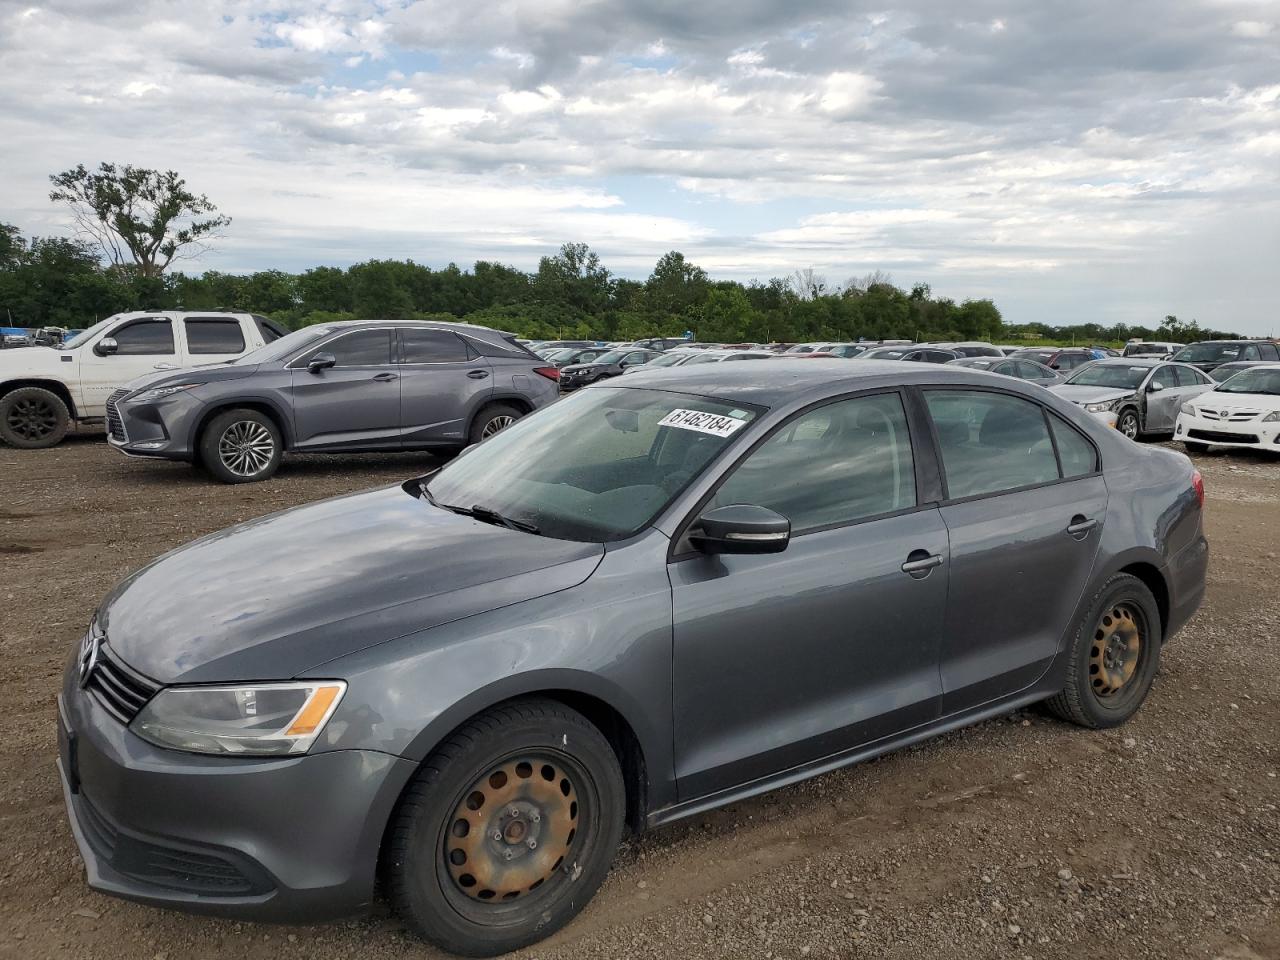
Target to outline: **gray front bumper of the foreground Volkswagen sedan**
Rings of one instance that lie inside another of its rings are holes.
[[[141,740],[73,681],[58,698],[68,819],[88,884],[251,920],[357,914],[416,769],[372,750],[232,759]]]

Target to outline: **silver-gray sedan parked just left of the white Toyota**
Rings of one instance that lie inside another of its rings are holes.
[[[1187,364],[1115,357],[1096,360],[1050,389],[1137,440],[1171,434],[1181,404],[1213,387],[1208,374]]]

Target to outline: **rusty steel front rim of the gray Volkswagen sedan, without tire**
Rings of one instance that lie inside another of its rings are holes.
[[[573,781],[562,763],[548,756],[508,760],[480,777],[453,812],[443,850],[449,876],[481,902],[532,893],[572,850],[577,814]]]

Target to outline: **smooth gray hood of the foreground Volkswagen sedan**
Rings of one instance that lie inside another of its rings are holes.
[[[604,548],[481,524],[403,488],[297,507],[152,561],[99,609],[161,684],[283,680],[367,646],[575,586]]]

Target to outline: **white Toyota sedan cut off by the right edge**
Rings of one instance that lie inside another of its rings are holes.
[[[1242,370],[1184,403],[1174,438],[1192,453],[1210,445],[1280,453],[1280,364]]]

